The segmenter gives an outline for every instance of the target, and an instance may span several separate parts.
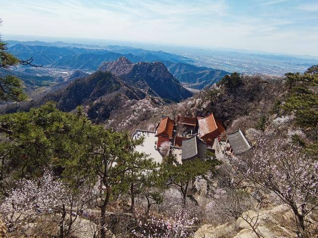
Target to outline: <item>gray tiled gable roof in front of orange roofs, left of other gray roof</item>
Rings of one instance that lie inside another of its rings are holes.
[[[207,145],[203,143],[197,136],[182,141],[181,159],[194,159],[200,157],[205,159]]]

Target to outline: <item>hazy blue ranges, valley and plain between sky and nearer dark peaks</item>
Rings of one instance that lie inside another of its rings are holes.
[[[8,41],[8,50],[14,55],[27,59],[32,56],[40,68],[11,69],[10,73],[25,81],[29,96],[33,89],[40,87],[43,92],[53,84],[63,81],[74,71],[90,74],[107,61],[125,57],[133,63],[162,62],[181,84],[189,89],[200,90],[218,82],[229,72],[247,74],[271,74],[280,76],[287,70],[303,71],[318,62],[317,59],[302,59],[282,55],[226,52],[222,50],[196,50],[195,48],[169,48],[167,50],[144,50],[118,45],[85,45],[65,42]],[[183,56],[184,55],[184,56]],[[208,66],[208,67],[207,67]],[[212,68],[209,68],[212,67]],[[7,74],[3,72],[4,74]],[[37,91],[39,91],[37,90]]]

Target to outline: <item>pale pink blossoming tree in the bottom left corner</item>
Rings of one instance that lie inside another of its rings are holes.
[[[43,214],[60,213],[67,198],[64,184],[50,172],[36,179],[21,179],[1,204],[9,229]]]

